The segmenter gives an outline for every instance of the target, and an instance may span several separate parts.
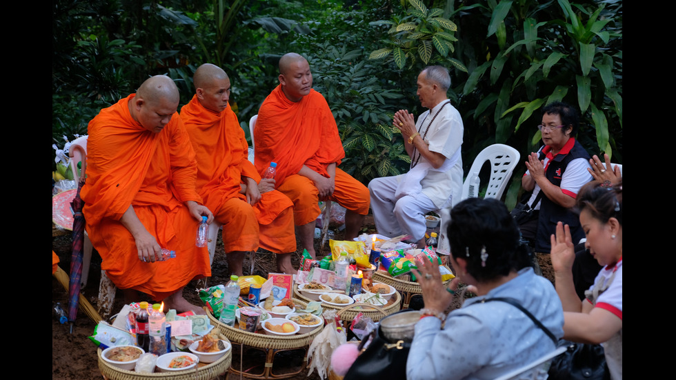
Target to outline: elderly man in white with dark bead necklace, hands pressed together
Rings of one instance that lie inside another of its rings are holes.
[[[450,104],[448,70],[428,66],[417,80],[417,96],[429,110],[414,122],[406,110],[395,113],[394,123],[404,136],[411,157],[410,170],[368,184],[371,209],[378,232],[388,237],[408,234],[419,248],[425,246],[425,214],[448,208],[462,191],[462,118]]]

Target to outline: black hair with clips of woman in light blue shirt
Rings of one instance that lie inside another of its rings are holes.
[[[519,227],[497,199],[469,198],[458,203],[450,210],[448,240],[453,257],[466,260],[467,272],[477,281],[497,279],[529,265]]]

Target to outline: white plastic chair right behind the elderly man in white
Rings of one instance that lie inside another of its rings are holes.
[[[479,194],[479,172],[486,161],[490,161],[490,179],[488,180],[488,188],[484,198],[500,199],[502,193],[507,188],[509,179],[512,177],[514,168],[519,163],[521,154],[519,151],[504,144],[493,144],[481,150],[472,163],[467,178],[462,184],[462,193],[460,199],[453,199],[453,205],[450,208],[439,210],[439,217],[441,217],[441,227],[439,228],[439,245],[437,252],[441,254],[450,253],[450,243],[446,236],[448,230],[448,222],[450,222],[450,209],[453,208],[460,201],[470,197],[470,186],[473,186],[473,197]],[[472,183],[476,181],[476,183]]]

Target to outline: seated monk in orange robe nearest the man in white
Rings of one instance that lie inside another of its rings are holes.
[[[254,141],[259,172],[277,163],[275,188],[293,202],[301,244],[312,257],[319,200],[346,208],[345,239],[357,237],[368,214],[368,189],[337,168],[345,157],[338,127],[324,97],[312,90],[310,65],[299,54],[279,60],[279,86],[261,105]]]

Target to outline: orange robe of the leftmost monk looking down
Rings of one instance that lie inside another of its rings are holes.
[[[118,288],[136,289],[159,301],[195,277],[210,276],[206,248],[195,246],[199,222],[186,201],[202,203],[195,191],[197,163],[178,114],[159,133],[132,119],[131,94],[104,108],[88,126],[87,180],[83,214],[101,269]],[[139,259],[134,237],[119,219],[132,205],[162,248],[176,251],[166,261]]]

